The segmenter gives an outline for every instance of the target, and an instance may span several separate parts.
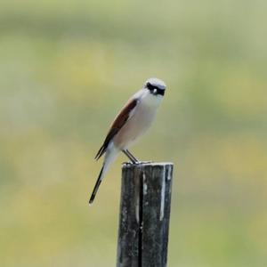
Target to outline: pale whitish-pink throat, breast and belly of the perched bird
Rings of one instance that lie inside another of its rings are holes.
[[[114,138],[114,144],[120,150],[127,149],[149,129],[162,96],[143,91],[140,93],[139,99],[140,101],[133,110],[132,117],[129,118]]]

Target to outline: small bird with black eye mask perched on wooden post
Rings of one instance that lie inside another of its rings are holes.
[[[166,84],[164,81],[156,77],[149,78],[142,86],[142,89],[134,93],[119,111],[117,117],[115,117],[100,150],[98,150],[95,156],[95,159],[98,160],[104,155],[104,160],[89,200],[90,205],[93,204],[95,195],[105,174],[109,170],[109,166],[114,163],[120,152],[123,152],[130,159],[131,163],[140,163],[128,148],[134,142],[137,142],[150,128],[165,91]]]

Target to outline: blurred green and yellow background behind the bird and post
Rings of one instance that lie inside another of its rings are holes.
[[[174,162],[169,266],[267,266],[266,10],[2,1],[0,266],[115,266],[125,157],[89,207],[93,157],[148,77],[168,88],[132,150]]]

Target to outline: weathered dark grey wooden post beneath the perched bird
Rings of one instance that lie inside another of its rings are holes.
[[[165,267],[173,164],[124,164],[117,267]]]

